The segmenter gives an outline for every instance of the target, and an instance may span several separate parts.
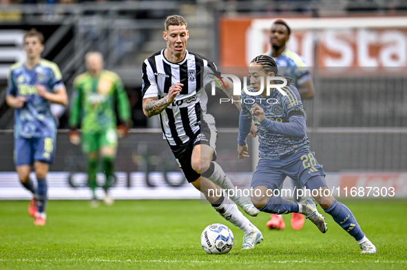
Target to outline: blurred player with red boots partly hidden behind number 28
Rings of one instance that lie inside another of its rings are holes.
[[[282,76],[287,76],[295,80],[293,84],[298,89],[302,100],[313,98],[313,80],[304,59],[286,47],[290,34],[291,29],[285,21],[275,21],[273,25],[271,25],[270,32],[271,52],[266,52],[265,54],[275,60]],[[294,191],[302,189],[298,181],[293,180],[293,185]],[[294,192],[294,194],[297,194],[297,192]],[[296,202],[301,201],[300,196],[294,196],[293,199]],[[304,225],[304,216],[302,214],[293,213],[291,216],[291,226],[293,229],[301,229],[302,225]],[[282,215],[272,214],[271,220],[267,222],[267,227],[270,229],[284,229],[285,223]]]

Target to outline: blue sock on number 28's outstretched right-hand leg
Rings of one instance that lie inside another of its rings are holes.
[[[330,214],[333,220],[348,234],[351,234],[355,240],[359,241],[364,238],[365,234],[362,232],[359,224],[357,224],[355,216],[353,216],[351,210],[346,205],[335,200],[325,212]]]

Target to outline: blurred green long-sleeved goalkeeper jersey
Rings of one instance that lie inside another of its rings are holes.
[[[115,102],[121,121],[130,120],[130,105],[123,83],[117,74],[103,70],[94,78],[89,72],[74,80],[74,93],[70,109],[70,126],[83,133],[97,133],[116,128]]]

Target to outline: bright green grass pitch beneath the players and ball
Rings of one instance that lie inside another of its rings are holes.
[[[378,254],[359,246],[331,218],[321,234],[310,221],[271,231],[269,214],[251,221],[264,241],[241,250],[243,233],[200,201],[50,201],[45,227],[35,227],[28,201],[0,201],[0,269],[407,269],[407,204],[348,204]],[[320,212],[322,211],[319,208]],[[200,234],[223,223],[235,236],[229,254],[209,255]]]

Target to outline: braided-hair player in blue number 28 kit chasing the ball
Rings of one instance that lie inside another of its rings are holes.
[[[279,76],[277,74],[278,67],[273,58],[257,56],[249,67],[251,87],[248,87],[248,90],[260,93],[260,81],[267,76]],[[291,78],[286,79],[293,82]],[[317,212],[312,199],[297,203],[281,196],[272,196],[273,190],[278,190],[287,176],[291,177],[309,190],[317,191],[313,192],[314,199],[338,225],[357,240],[362,254],[376,253],[375,245],[366,238],[351,210],[336,201],[328,194],[329,192],[324,192],[329,191],[324,178],[325,173],[309,148],[300,94],[290,84],[282,87],[282,91],[286,95],[278,89],[271,89],[269,95],[266,89],[260,95],[242,93],[238,135],[239,158],[249,157],[246,139],[252,120],[258,126],[260,143],[260,160],[251,181],[253,205],[258,210],[270,214],[304,214],[322,233],[325,233],[327,228],[324,217]]]

